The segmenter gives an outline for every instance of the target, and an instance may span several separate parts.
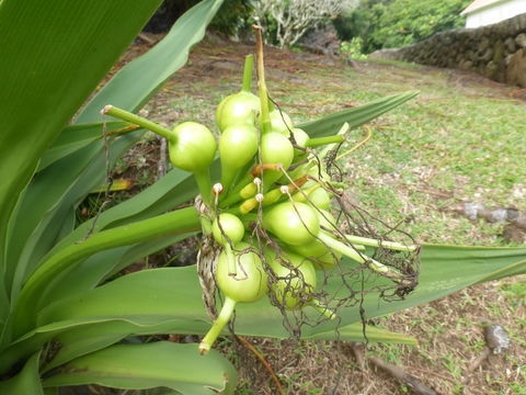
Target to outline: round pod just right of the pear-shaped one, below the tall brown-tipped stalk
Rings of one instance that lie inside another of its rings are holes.
[[[290,140],[283,134],[270,132],[261,137],[261,160],[263,163],[281,163],[286,170],[293,162],[294,147]],[[265,191],[282,177],[277,170],[265,171],[263,184]]]

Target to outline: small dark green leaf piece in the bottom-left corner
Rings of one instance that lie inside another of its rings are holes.
[[[24,368],[15,376],[0,381],[0,394],[5,395],[44,395],[41,376],[38,374],[38,359],[36,352],[25,362]]]

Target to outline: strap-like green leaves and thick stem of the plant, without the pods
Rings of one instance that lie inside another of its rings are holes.
[[[159,3],[0,2],[2,394],[56,394],[60,386],[88,383],[162,386],[183,394],[233,391],[236,372],[214,350],[199,356],[197,345],[128,341],[138,335],[205,335],[210,329],[194,267],[115,275],[138,259],[201,232],[203,223],[193,206],[173,210],[198,193],[192,173],[175,168],[101,213],[96,222],[75,222],[79,202],[105,177],[100,110],[113,104],[137,112],[185,63],[221,1],[195,5],[163,41],[124,67],[79,110]],[[298,126],[309,138],[328,136],[345,122],[356,127],[412,95],[385,98]],[[142,129],[106,120],[105,132],[111,165],[140,138]],[[213,182],[219,180],[213,176]],[[525,270],[525,256],[524,248],[423,245],[415,291],[393,303],[378,303],[370,295],[364,307],[374,317],[517,274]],[[228,269],[231,260],[222,259]],[[338,290],[338,279],[328,286]],[[276,287],[275,293],[287,297],[289,290]],[[362,339],[356,308],[340,308],[338,316],[339,320],[305,328],[301,336]],[[288,337],[282,321],[279,311],[263,296],[237,307],[235,327],[244,335]],[[414,342],[377,328],[367,334],[370,341]]]

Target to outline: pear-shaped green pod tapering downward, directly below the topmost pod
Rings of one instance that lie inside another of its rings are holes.
[[[228,126],[219,137],[221,184],[229,191],[239,169],[258,153],[258,131],[250,124]]]

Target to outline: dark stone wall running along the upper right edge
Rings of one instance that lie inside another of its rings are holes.
[[[526,88],[526,13],[489,26],[437,33],[404,48],[377,50],[369,58],[472,70]]]

